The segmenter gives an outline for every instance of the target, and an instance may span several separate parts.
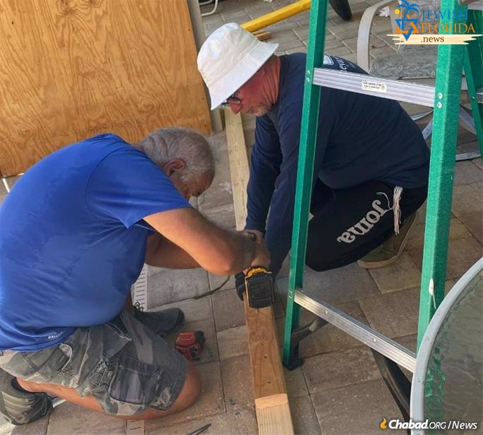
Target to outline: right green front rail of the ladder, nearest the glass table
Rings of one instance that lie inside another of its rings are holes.
[[[442,0],[441,9],[464,11],[466,6],[460,6],[457,0]],[[441,18],[441,23],[453,24],[454,18],[449,18]],[[444,298],[464,50],[464,45],[441,44],[438,47],[417,329],[418,349],[429,321]]]

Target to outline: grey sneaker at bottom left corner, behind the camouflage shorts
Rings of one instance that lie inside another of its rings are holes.
[[[46,393],[19,391],[13,376],[0,369],[0,414],[11,424],[26,424],[49,415],[52,399]]]

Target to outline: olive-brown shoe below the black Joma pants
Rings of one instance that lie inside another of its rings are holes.
[[[362,269],[377,269],[387,266],[398,259],[408,241],[408,234],[416,221],[417,212],[408,216],[399,230],[399,234],[393,234],[384,243],[357,260],[357,265]]]

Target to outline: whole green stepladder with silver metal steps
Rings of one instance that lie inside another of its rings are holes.
[[[283,364],[288,368],[301,364],[298,358],[300,340],[324,324],[334,324],[338,329],[372,348],[384,381],[389,386],[403,416],[408,419],[410,383],[399,366],[414,372],[416,354],[303,289],[320,86],[434,107],[417,333],[419,348],[424,331],[444,298],[463,68],[479,149],[483,156],[483,37],[472,39],[467,45],[439,45],[435,87],[334,71],[322,68],[327,1],[313,0],[310,13]],[[467,10],[468,24],[472,23],[475,33],[482,35],[483,11],[478,10],[481,8],[482,1],[474,3],[466,0],[465,4],[462,3],[463,0],[460,0],[460,3],[458,0],[443,0],[441,10],[460,11],[459,13],[463,15]],[[454,16],[458,14],[447,15],[446,18],[441,18],[441,24],[454,24]],[[298,325],[300,306],[317,314],[318,318],[312,324],[300,327]]]

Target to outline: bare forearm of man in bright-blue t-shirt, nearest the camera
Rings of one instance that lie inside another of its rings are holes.
[[[169,210],[144,219],[213,274],[235,274],[252,265],[269,266],[269,254],[264,246],[219,228],[195,209]]]

